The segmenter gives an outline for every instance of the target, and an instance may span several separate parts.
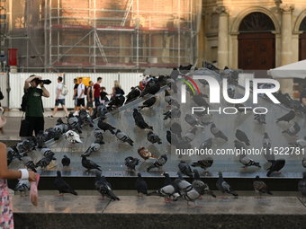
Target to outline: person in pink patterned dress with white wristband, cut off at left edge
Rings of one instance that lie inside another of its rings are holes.
[[[3,128],[4,125],[5,122],[3,119],[1,119],[0,128]],[[26,169],[20,169],[18,171],[9,170],[7,168],[6,156],[6,145],[4,145],[4,143],[0,143],[0,227],[14,228],[13,207],[11,204],[6,180],[19,179],[36,181],[37,173],[28,171]]]

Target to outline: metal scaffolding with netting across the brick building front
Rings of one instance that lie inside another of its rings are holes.
[[[201,0],[11,0],[6,48],[38,71],[195,64]]]

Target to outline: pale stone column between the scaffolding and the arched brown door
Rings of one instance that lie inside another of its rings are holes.
[[[229,65],[229,9],[225,6],[216,6],[213,12],[219,14],[218,67],[223,69]]]

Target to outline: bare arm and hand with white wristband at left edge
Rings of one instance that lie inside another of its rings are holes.
[[[21,171],[9,170],[6,161],[6,145],[0,143],[0,178],[2,179],[20,179],[22,178]],[[29,181],[36,180],[36,173],[29,171]]]

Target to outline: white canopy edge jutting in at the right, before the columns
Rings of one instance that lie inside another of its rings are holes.
[[[279,66],[268,71],[268,75],[277,78],[302,78],[306,77],[306,59],[286,66]]]

